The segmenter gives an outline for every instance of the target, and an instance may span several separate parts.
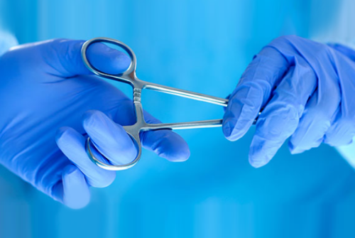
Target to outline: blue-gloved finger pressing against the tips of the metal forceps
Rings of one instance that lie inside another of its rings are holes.
[[[227,139],[235,141],[246,134],[289,66],[288,60],[271,46],[253,58],[231,93],[224,114],[223,132]]]

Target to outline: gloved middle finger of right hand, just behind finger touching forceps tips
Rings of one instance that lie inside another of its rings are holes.
[[[256,123],[249,162],[254,167],[268,163],[297,128],[305,104],[317,87],[312,68],[300,57],[274,90]]]

